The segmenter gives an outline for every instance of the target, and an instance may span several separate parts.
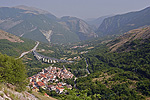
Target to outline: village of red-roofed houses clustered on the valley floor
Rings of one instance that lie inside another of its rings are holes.
[[[48,68],[42,69],[42,72],[39,72],[38,74],[33,75],[32,77],[29,77],[29,81],[30,86],[35,91],[38,91],[39,87],[41,87],[45,90],[54,90],[57,93],[62,93],[64,90],[64,86],[66,86],[68,89],[72,89],[72,86],[63,82],[59,82],[58,79],[69,79],[73,78],[73,76],[74,75],[68,70],[66,70],[64,66],[63,68],[50,66]]]

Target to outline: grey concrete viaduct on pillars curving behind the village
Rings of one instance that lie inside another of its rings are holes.
[[[38,60],[42,60],[43,62],[46,62],[46,63],[69,62],[67,60],[61,60],[61,59],[56,59],[56,58],[51,58],[51,57],[41,55],[41,54],[37,53],[35,50],[33,50],[32,52],[33,52],[33,55]]]

